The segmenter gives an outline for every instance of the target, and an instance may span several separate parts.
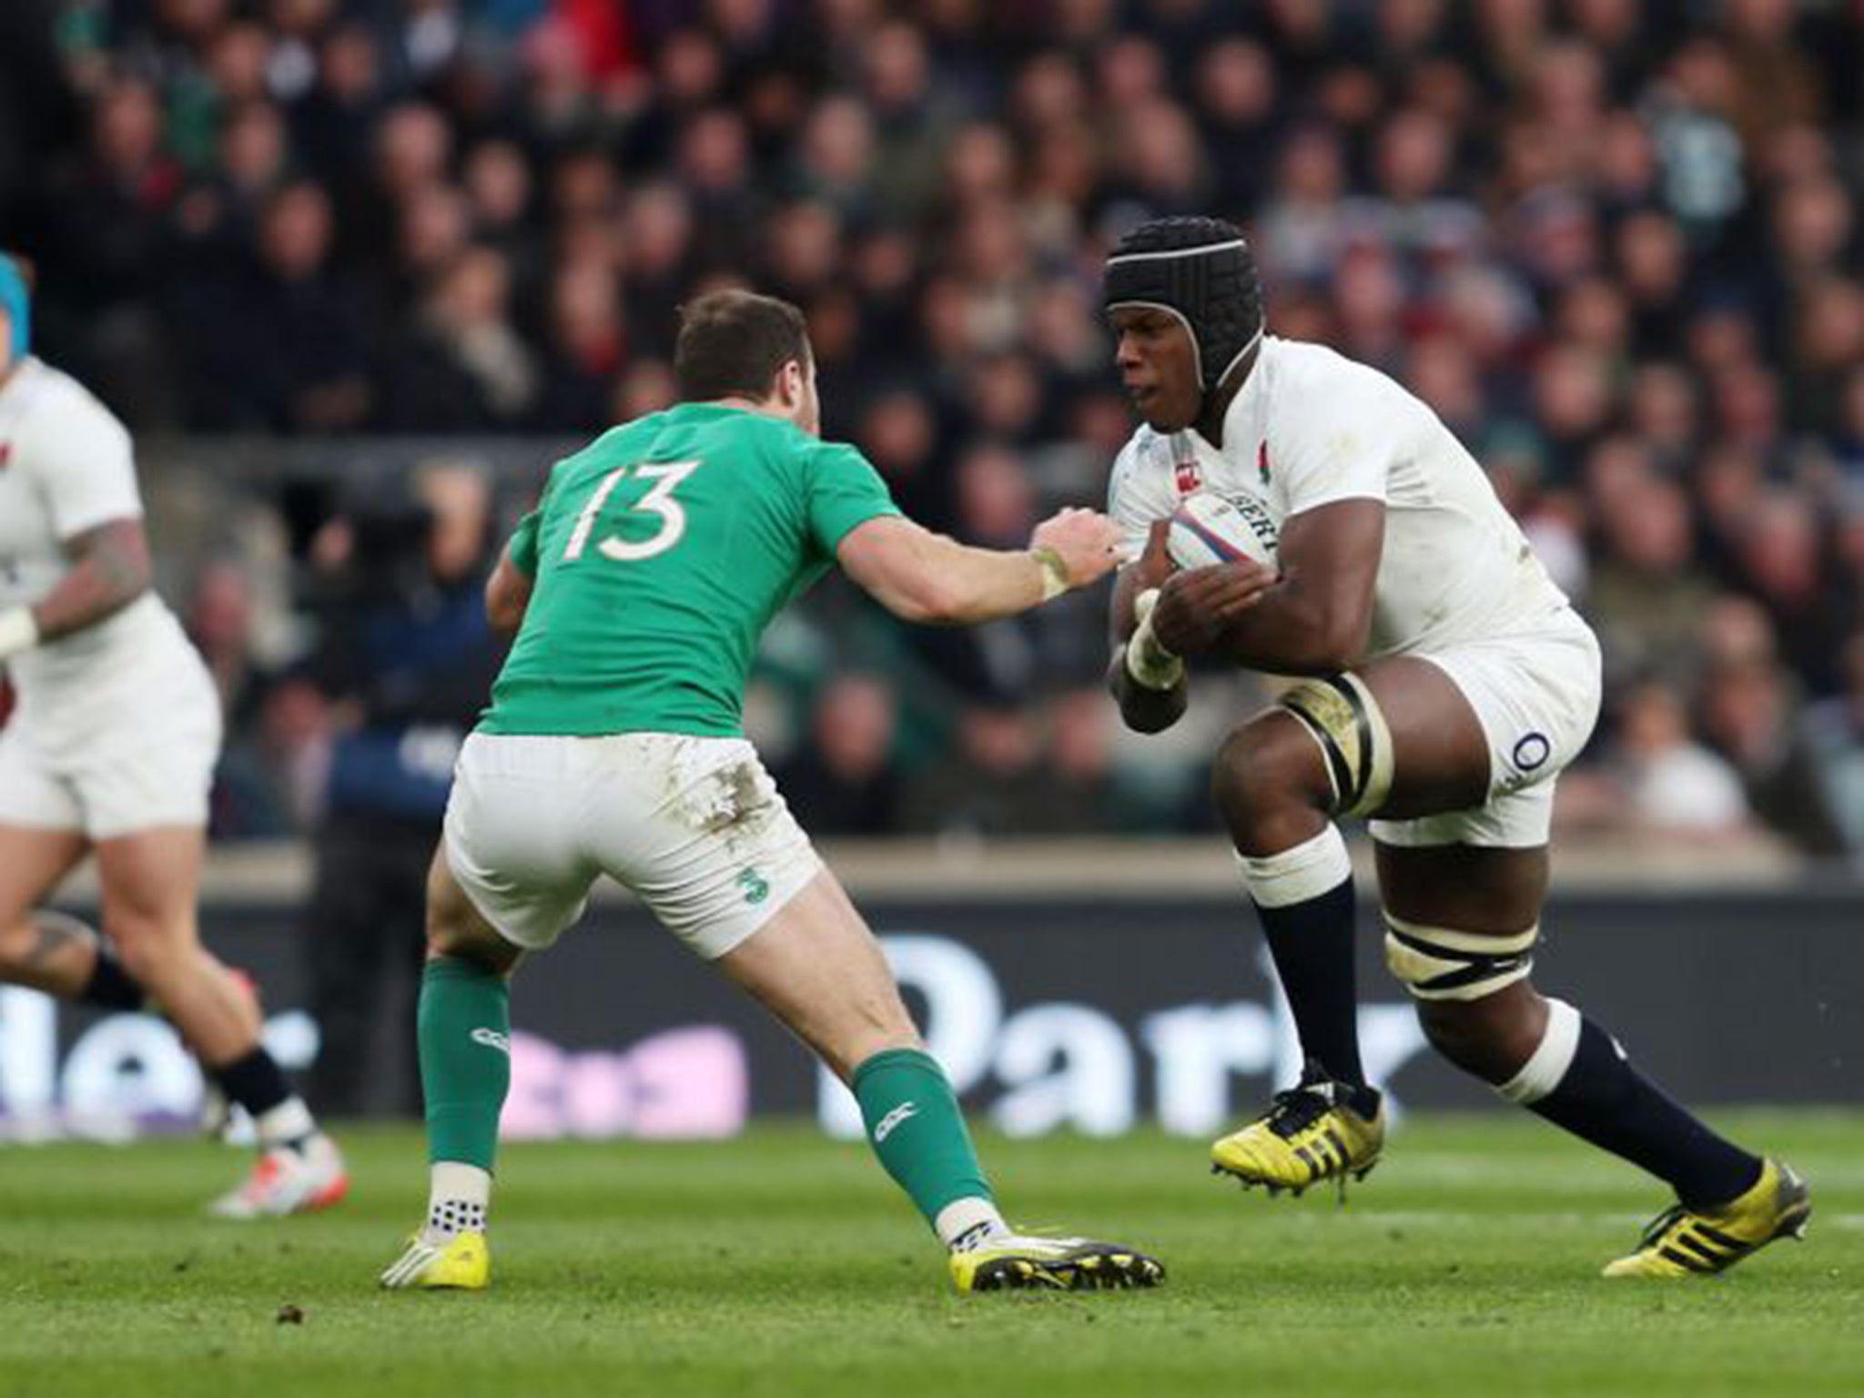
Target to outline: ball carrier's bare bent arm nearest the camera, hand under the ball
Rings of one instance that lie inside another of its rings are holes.
[[[1281,576],[1232,610],[1243,563],[1174,572],[1152,611],[1158,641],[1180,656],[1219,654],[1269,675],[1351,669],[1372,630],[1372,593],[1385,550],[1385,503],[1338,500],[1282,526]],[[1254,567],[1254,565],[1249,565]]]

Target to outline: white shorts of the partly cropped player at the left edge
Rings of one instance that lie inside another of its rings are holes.
[[[89,841],[207,826],[220,693],[192,651],[138,684],[134,693],[86,705],[84,723],[71,731],[21,706],[0,729],[0,826],[75,829]]]

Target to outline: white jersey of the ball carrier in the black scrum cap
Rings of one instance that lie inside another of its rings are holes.
[[[1221,451],[1191,429],[1141,427],[1113,464],[1107,513],[1139,550],[1199,490],[1258,501],[1277,531],[1335,500],[1385,501],[1374,656],[1519,634],[1568,604],[1437,414],[1323,345],[1262,339]]]

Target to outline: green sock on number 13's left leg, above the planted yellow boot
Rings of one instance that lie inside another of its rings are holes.
[[[511,1090],[511,986],[473,962],[440,956],[421,975],[416,1038],[427,1098],[427,1158],[487,1174]]]

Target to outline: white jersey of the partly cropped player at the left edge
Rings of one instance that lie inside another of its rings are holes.
[[[142,518],[129,431],[69,375],[28,358],[0,384],[0,608],[45,598],[71,570],[63,541]],[[103,706],[151,697],[199,664],[155,593],[112,617],[13,656],[19,721],[78,740]]]

